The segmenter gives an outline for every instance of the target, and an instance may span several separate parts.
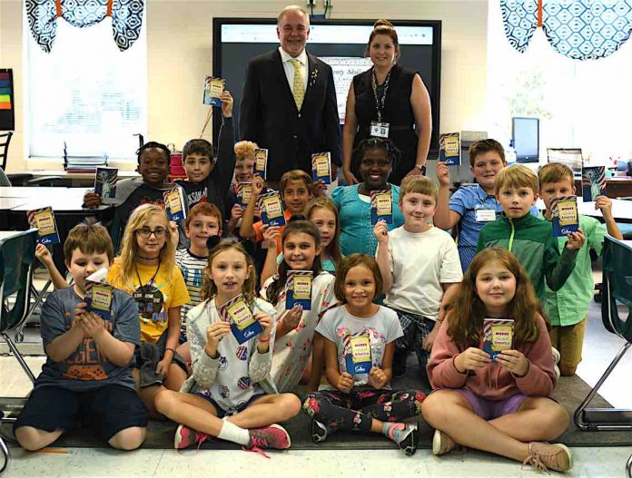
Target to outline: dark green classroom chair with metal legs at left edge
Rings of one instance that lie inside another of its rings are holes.
[[[9,334],[22,327],[28,317],[29,286],[33,276],[36,240],[37,229],[16,232],[15,236],[0,240],[0,336],[32,383],[35,383],[35,376]],[[24,403],[23,398],[0,398],[0,423],[15,422],[15,417],[5,417],[4,412],[15,412]],[[0,450],[5,455],[5,463],[0,469],[2,473],[9,460],[2,437]]]

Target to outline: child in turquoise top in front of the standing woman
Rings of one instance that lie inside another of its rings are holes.
[[[375,256],[378,241],[370,222],[370,193],[372,190],[392,191],[393,223],[388,230],[404,224],[401,214],[400,187],[389,183],[390,172],[400,161],[400,151],[389,139],[368,138],[360,141],[353,151],[354,169],[359,171],[360,184],[341,186],[331,192],[331,200],[340,212],[341,252]]]

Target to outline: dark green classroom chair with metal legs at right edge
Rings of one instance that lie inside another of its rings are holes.
[[[575,411],[575,424],[582,431],[632,430],[632,410],[587,408],[599,387],[632,345],[632,244],[607,235],[604,241],[601,320],[607,331],[625,340],[617,356],[607,366],[584,402]],[[624,309],[619,315],[617,307]],[[625,309],[627,308],[627,317]]]

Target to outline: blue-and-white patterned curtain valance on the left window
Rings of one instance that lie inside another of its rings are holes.
[[[119,50],[138,39],[143,25],[144,0],[26,0],[26,16],[35,42],[50,53],[57,33],[57,18],[84,28],[112,17],[112,34]]]

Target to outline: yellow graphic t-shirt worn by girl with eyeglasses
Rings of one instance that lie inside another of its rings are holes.
[[[136,267],[138,275],[134,274],[133,289],[123,287],[120,258],[114,260],[114,265],[108,271],[107,281],[133,296],[141,320],[141,341],[155,344],[167,328],[169,309],[189,302],[189,292],[186,290],[182,272],[175,266],[167,271],[161,264],[157,274],[156,266],[136,264]],[[139,283],[138,276],[142,284]],[[144,288],[140,290],[142,285]]]

